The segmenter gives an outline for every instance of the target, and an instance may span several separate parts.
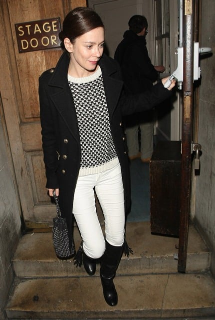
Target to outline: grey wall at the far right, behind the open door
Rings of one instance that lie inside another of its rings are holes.
[[[199,143],[201,174],[197,176],[195,219],[213,250],[215,275],[215,0],[202,1],[200,46],[212,47],[213,55],[201,58]]]

